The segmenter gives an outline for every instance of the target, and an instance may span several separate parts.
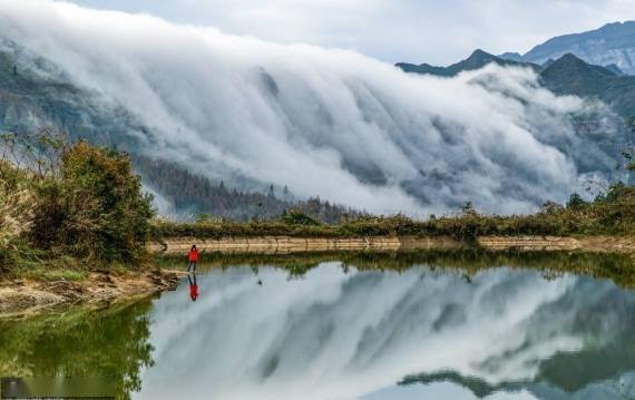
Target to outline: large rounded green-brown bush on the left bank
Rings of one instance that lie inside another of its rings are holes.
[[[137,261],[153,216],[126,155],[80,142],[61,156],[60,176],[38,186],[31,238],[41,248],[105,262]]]

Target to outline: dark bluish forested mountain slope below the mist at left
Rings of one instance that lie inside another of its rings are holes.
[[[145,187],[159,203],[166,203],[163,212],[175,217],[205,213],[246,221],[276,217],[290,208],[331,223],[359,215],[319,198],[299,201],[283,188],[277,194],[273,187],[262,192],[226,188],[222,182],[213,183],[155,158],[144,150],[155,140],[153,130],[124,107],[78,88],[56,66],[14,42],[0,41],[0,133],[27,135],[45,128],[63,133],[74,142],[86,139],[129,153]]]

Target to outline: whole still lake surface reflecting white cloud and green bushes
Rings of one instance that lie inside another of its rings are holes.
[[[190,283],[2,322],[1,372],[114,375],[133,399],[635,398],[635,292],[608,279],[332,260]]]

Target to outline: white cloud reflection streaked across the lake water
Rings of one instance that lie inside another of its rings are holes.
[[[157,302],[143,398],[354,398],[440,371],[533,381],[543,360],[615,328],[596,303],[635,303],[606,282],[509,270],[470,284],[428,270],[344,275],[336,263],[300,281],[260,276],[263,286],[246,269],[213,273],[199,276],[196,303],[182,290]]]

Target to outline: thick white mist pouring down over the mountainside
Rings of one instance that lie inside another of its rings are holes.
[[[556,97],[528,69],[413,76],[353,51],[49,0],[0,0],[0,35],[133,113],[150,129],[143,153],[213,181],[374,213],[472,202],[507,214],[564,202],[613,166],[570,121],[599,106]]]

